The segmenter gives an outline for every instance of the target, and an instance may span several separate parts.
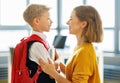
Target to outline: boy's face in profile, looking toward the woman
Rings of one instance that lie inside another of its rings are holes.
[[[37,31],[49,32],[52,20],[50,19],[49,11],[44,12],[37,21]]]

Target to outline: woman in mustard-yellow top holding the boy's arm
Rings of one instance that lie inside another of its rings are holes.
[[[49,64],[40,59],[41,68],[57,83],[100,83],[96,53],[92,44],[101,42],[103,38],[102,22],[97,10],[85,5],[75,7],[67,24],[69,33],[76,36],[77,45],[66,66],[60,63],[66,78],[55,70],[50,59]]]

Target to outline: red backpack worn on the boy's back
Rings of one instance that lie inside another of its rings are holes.
[[[48,45],[37,35],[23,38],[14,49],[11,83],[37,83],[38,76],[42,71],[40,66],[38,66],[37,72],[32,78],[29,77],[29,69],[26,66],[28,42],[34,41],[41,42],[48,50]]]

